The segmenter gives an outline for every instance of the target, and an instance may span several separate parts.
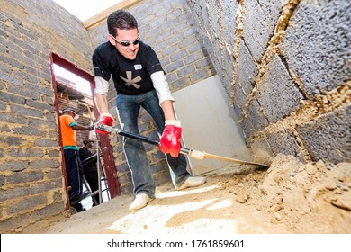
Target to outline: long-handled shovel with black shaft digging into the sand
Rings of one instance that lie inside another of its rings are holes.
[[[159,141],[157,141],[155,139],[149,139],[149,138],[146,138],[146,137],[134,134],[134,133],[126,132],[126,131],[123,131],[123,130],[120,130],[117,128],[113,128],[110,126],[106,126],[106,125],[103,125],[100,123],[97,123],[95,125],[95,128],[98,130],[103,130],[103,131],[110,132],[113,134],[119,134],[119,135],[126,137],[126,138],[140,140],[142,142],[146,142],[146,143],[149,143],[152,145],[158,146],[158,143],[159,143]],[[238,159],[234,159],[234,158],[230,158],[230,157],[222,157],[222,156],[213,155],[210,153],[206,153],[206,152],[191,149],[191,148],[183,148],[182,147],[182,148],[180,148],[180,153],[184,154],[186,156],[189,156],[189,157],[193,157],[193,158],[198,159],[198,160],[202,160],[206,157],[210,157],[210,158],[220,159],[220,160],[224,160],[224,161],[228,161],[228,162],[234,162],[234,163],[238,163],[238,164],[242,164],[242,165],[259,166],[263,169],[269,168],[269,166],[265,165],[265,164],[260,164],[260,163],[250,162],[250,161],[242,161],[242,160],[238,160]]]

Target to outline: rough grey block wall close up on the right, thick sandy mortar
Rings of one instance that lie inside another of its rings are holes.
[[[254,153],[351,161],[350,1],[187,2]]]

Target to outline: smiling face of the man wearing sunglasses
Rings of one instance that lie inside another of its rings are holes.
[[[109,34],[108,38],[110,43],[116,47],[124,58],[133,60],[137,57],[139,50],[139,34],[137,29],[117,29],[117,36],[113,38],[113,36]]]

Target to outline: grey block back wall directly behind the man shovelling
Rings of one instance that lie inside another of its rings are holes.
[[[216,74],[185,0],[144,0],[132,5],[128,11],[139,23],[141,40],[157,52],[172,92]],[[94,48],[107,40],[106,21],[89,28],[88,31]],[[118,126],[115,96],[111,80],[109,106]],[[142,135],[158,139],[156,126],[144,110],[140,111],[139,129]],[[131,193],[130,170],[122,151],[121,136],[110,136],[110,139],[116,157],[121,192]],[[155,182],[163,184],[170,181],[164,154],[148,144],[145,144],[145,148]]]

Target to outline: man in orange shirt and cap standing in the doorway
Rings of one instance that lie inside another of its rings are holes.
[[[74,109],[67,108],[62,111],[62,115],[59,117],[59,124],[61,126],[62,147],[65,156],[67,185],[70,187],[68,191],[69,202],[77,211],[82,211],[79,204],[75,205],[76,200],[83,193],[83,167],[79,158],[79,148],[76,145],[76,130],[94,130],[94,125],[89,127],[80,126],[76,122],[78,118],[79,115]]]

